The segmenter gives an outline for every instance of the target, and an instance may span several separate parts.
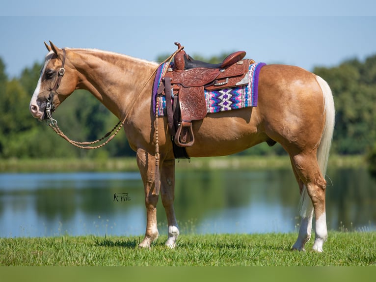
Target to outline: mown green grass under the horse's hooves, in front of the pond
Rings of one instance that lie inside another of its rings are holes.
[[[291,251],[297,234],[181,235],[178,247],[139,249],[142,237],[1,238],[1,266],[376,266],[376,232],[329,232],[324,253]]]

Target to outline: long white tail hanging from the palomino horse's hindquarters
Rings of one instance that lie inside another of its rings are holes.
[[[322,90],[324,98],[324,112],[322,114],[325,114],[324,129],[322,131],[320,145],[317,150],[317,161],[319,163],[321,173],[323,177],[325,177],[329,159],[330,146],[333,139],[335,109],[333,95],[329,85],[319,76],[316,76],[316,81],[318,82]],[[307,189],[304,185],[303,191],[300,196],[300,216],[305,218],[307,216],[310,216],[312,212],[312,201],[311,198],[308,196]]]

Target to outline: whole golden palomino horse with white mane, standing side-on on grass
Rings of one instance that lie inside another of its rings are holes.
[[[166,245],[174,248],[179,235],[173,207],[175,158],[167,118],[155,117],[151,96],[150,78],[154,78],[158,64],[100,50],[59,49],[51,42],[46,47],[49,53],[30,101],[31,114],[44,120],[46,106],[55,109],[75,89],[86,89],[120,120],[125,119],[124,130],[136,151],[145,189],[147,223],[139,247],[150,247],[159,235],[155,182],[160,181],[168,222]],[[51,96],[53,90],[55,95]],[[301,194],[302,219],[293,249],[304,250],[311,237],[314,213],[313,249],[322,252],[327,239],[324,175],[334,129],[331,90],[322,78],[304,69],[270,64],[260,71],[258,92],[257,107],[208,114],[193,122],[195,142],[187,147],[187,153],[190,157],[223,156],[270,139],[279,142],[290,156]],[[155,175],[156,124],[159,177]]]

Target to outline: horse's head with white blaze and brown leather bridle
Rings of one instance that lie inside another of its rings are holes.
[[[49,53],[29,106],[32,116],[39,120],[51,117],[52,112],[76,89],[78,83],[78,77],[66,59],[65,50],[57,48],[51,41],[51,46],[45,45]]]

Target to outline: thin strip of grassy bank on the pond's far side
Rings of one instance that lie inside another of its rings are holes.
[[[330,156],[328,169],[367,168],[364,156]],[[288,156],[225,156],[177,160],[176,169],[290,169]],[[0,159],[4,172],[138,171],[135,157],[81,159]]]

